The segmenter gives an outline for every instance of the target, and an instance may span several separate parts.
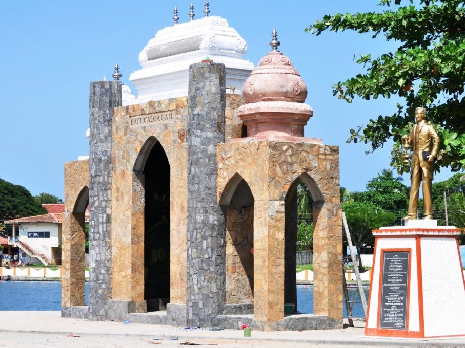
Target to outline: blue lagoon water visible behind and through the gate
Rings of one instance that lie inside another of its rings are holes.
[[[364,287],[368,299],[368,287]],[[0,308],[3,311],[59,311],[62,286],[59,281],[0,281]],[[353,298],[356,289],[349,289]],[[86,304],[89,283],[86,282]],[[297,286],[297,308],[300,313],[313,313],[313,286]],[[364,317],[361,304],[355,305],[354,316]],[[346,308],[344,307],[346,317]]]

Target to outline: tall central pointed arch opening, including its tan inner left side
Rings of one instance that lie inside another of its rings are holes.
[[[132,185],[132,274],[147,312],[166,310],[170,301],[170,170],[163,146],[150,137],[134,163]]]

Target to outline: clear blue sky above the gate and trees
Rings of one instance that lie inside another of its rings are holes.
[[[315,19],[336,12],[380,11],[379,1],[301,0],[266,2],[210,0],[210,15],[226,18],[248,43],[245,56],[255,65],[267,54],[273,27],[280,50],[307,84],[306,103],[314,116],[305,129],[308,137],[340,146],[341,185],[363,190],[382,168],[389,168],[390,146],[365,155],[364,144],[346,144],[349,129],[370,118],[391,114],[397,99],[360,100],[352,104],[332,96],[333,83],[361,72],[354,55],[379,55],[395,48],[382,36],[353,32],[310,35],[304,29]],[[0,9],[0,121],[2,164],[0,178],[25,186],[32,194],[52,193],[63,198],[65,162],[88,154],[89,83],[111,78],[115,61],[128,81],[140,69],[139,52],[150,38],[172,25],[173,9],[179,23],[189,19],[190,1],[15,1]],[[196,17],[203,16],[204,0],[194,1]],[[435,180],[450,176],[442,170]],[[408,176],[404,176],[409,184]]]

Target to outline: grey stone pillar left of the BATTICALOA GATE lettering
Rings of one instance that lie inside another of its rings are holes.
[[[119,81],[90,84],[89,320],[106,320],[111,297],[111,120]]]

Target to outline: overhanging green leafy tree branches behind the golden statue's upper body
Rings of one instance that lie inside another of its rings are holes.
[[[392,3],[398,5],[393,10],[388,8]],[[381,0],[383,12],[325,15],[306,31],[320,35],[328,30],[353,30],[372,33],[373,38],[383,34],[398,42],[395,52],[380,57],[361,54],[357,63],[366,73],[334,84],[333,95],[349,103],[356,96],[368,100],[398,95],[405,99],[392,114],[373,117],[366,126],[351,129],[348,142],[370,143],[373,151],[392,137],[392,165],[399,172],[408,172],[410,167],[399,159],[399,142],[412,126],[415,108],[424,106],[441,138],[436,169],[450,166],[453,171],[460,170],[465,166],[465,2],[413,3]]]

